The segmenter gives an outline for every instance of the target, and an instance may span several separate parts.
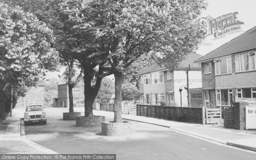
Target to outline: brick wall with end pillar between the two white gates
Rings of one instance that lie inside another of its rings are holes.
[[[224,110],[224,126],[243,130],[245,127],[245,106],[247,102],[235,102],[233,107]]]

